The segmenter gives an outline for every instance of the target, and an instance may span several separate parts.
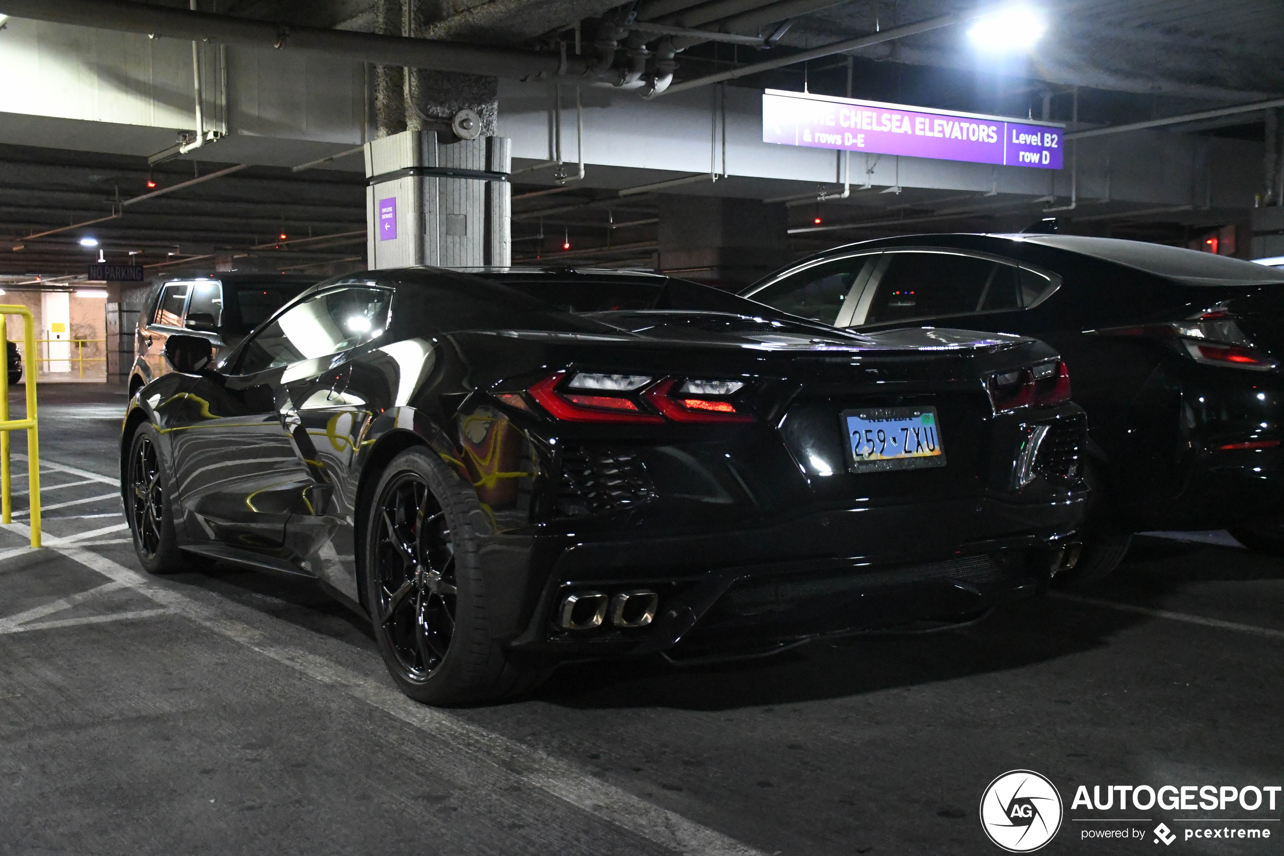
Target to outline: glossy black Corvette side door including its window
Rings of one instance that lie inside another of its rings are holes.
[[[282,548],[290,515],[316,508],[318,488],[329,485],[291,389],[315,382],[345,352],[380,335],[389,303],[383,289],[311,295],[238,348],[223,373],[195,381],[186,395],[203,407],[187,408],[194,416],[173,439],[190,538]]]

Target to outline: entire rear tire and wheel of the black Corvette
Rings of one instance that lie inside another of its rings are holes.
[[[425,705],[476,705],[533,689],[551,671],[516,662],[490,638],[476,495],[424,448],[384,470],[365,520],[366,604],[379,651],[403,693]]]

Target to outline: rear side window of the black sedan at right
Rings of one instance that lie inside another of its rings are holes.
[[[1019,308],[1017,271],[955,253],[887,253],[864,323]]]

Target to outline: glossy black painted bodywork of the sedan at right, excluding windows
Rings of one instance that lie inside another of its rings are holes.
[[[1089,252],[1004,235],[907,235],[849,244],[782,268],[745,289],[822,258],[880,249],[951,249],[990,254],[1050,271],[1061,287],[1031,309],[921,317],[855,327],[872,332],[905,323],[963,326],[1032,336],[1055,348],[1089,418],[1089,454],[1118,513],[1135,531],[1216,529],[1280,507],[1284,449],[1219,450],[1247,439],[1281,438],[1284,376],[1207,366],[1172,343],[1097,331],[1189,318],[1224,307],[1266,350],[1284,357],[1284,282],[1262,270],[1262,284],[1201,285],[1159,276]],[[1055,239],[1053,239],[1055,240]]]

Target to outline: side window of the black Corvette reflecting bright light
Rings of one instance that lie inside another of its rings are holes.
[[[362,345],[388,326],[390,296],[384,289],[336,289],[313,295],[259,330],[241,352],[236,372],[253,375]]]

